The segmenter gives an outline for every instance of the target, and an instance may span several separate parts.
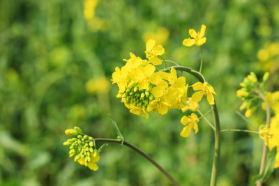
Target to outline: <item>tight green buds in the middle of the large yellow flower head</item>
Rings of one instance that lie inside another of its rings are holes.
[[[121,96],[121,102],[146,110],[150,102],[154,100],[154,96],[150,92],[152,87],[142,90],[137,86],[136,82],[131,82],[128,87],[130,88],[127,88]]]

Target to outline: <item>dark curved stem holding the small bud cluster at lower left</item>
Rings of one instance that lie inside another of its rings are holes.
[[[172,176],[167,173],[167,171],[165,171],[165,169],[163,169],[162,166],[160,166],[160,164],[158,164],[155,160],[152,159],[152,157],[150,157],[149,155],[147,155],[146,153],[144,153],[144,151],[142,151],[140,148],[137,148],[137,146],[134,146],[133,144],[128,143],[127,141],[119,141],[118,139],[105,139],[105,138],[96,138],[94,139],[94,141],[105,141],[105,142],[111,142],[111,143],[116,143],[116,144],[121,144],[123,143],[124,146],[128,146],[129,148],[132,148],[133,150],[135,150],[137,153],[140,153],[140,155],[142,155],[143,157],[145,157],[147,160],[149,160],[149,162],[151,162],[154,166],[156,166],[163,174],[165,174],[165,176],[167,176],[167,178],[169,178],[169,180],[176,186],[180,186],[179,183],[174,180],[174,178],[172,178]]]

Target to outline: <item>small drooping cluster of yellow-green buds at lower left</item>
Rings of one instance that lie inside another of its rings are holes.
[[[80,127],[68,129],[65,134],[72,134],[76,137],[68,139],[63,143],[64,146],[70,146],[70,157],[75,156],[75,162],[88,166],[93,171],[98,170],[96,162],[100,160],[99,153],[92,137],[82,134]]]

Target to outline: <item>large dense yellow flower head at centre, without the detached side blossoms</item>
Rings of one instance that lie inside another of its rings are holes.
[[[148,118],[147,111],[160,115],[167,114],[169,109],[184,107],[187,102],[188,84],[185,77],[177,77],[176,70],[171,72],[155,72],[154,65],[162,61],[158,56],[165,53],[162,45],[156,45],[155,40],[146,42],[146,59],[130,53],[130,59],[121,70],[115,68],[112,82],[119,86],[116,96],[121,98],[130,112]]]

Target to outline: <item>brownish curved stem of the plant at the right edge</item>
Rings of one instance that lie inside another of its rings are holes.
[[[264,104],[266,105],[266,125],[269,127],[270,124],[270,110],[269,110],[269,103],[267,102],[265,96],[258,90],[255,91],[257,95],[259,95],[259,98],[261,98],[264,101]],[[259,175],[264,171],[264,165],[266,163],[266,143],[264,141],[264,146],[262,148],[262,160],[261,160],[261,166],[259,167]],[[262,182],[264,180],[264,176],[261,180],[257,181],[257,186],[261,186]]]

